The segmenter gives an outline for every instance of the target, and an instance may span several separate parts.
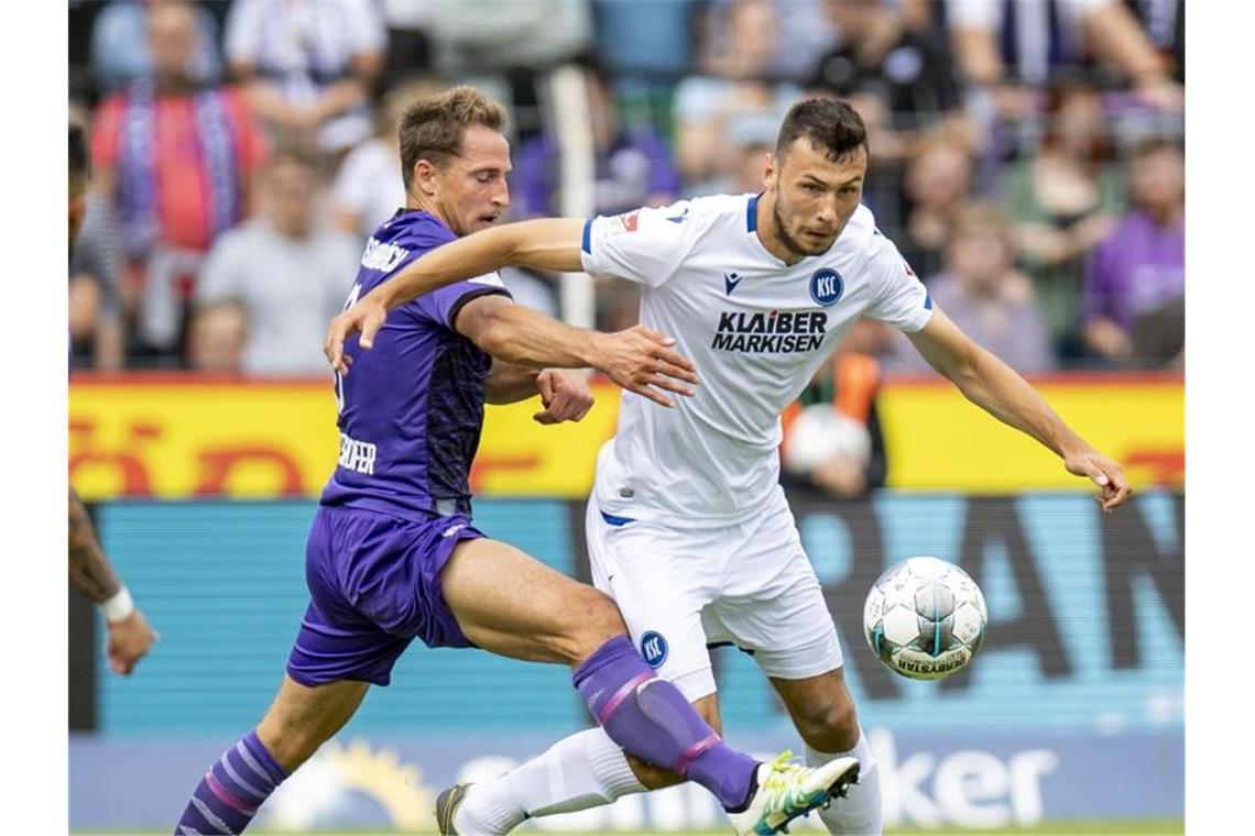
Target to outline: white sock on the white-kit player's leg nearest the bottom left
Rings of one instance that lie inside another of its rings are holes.
[[[527,817],[600,807],[645,791],[622,750],[600,727],[590,728],[472,785],[456,823],[463,833],[508,833]]]

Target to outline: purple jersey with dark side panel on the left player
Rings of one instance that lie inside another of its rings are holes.
[[[435,217],[400,211],[361,257],[348,305],[457,236]],[[353,370],[336,375],[340,457],[323,505],[413,516],[471,514],[467,478],[483,425],[492,358],[453,328],[458,311],[508,291],[496,273],[449,285],[395,308],[363,351],[345,341]]]

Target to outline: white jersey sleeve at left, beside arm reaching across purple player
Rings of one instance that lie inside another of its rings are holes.
[[[594,276],[658,287],[693,247],[695,222],[689,202],[599,216],[584,224],[580,259]]]

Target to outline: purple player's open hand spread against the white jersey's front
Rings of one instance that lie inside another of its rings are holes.
[[[698,376],[692,360],[671,351],[674,345],[673,337],[664,337],[643,325],[601,333],[596,337],[595,366],[628,391],[663,406],[675,406],[675,401],[654,387],[692,395],[693,389],[685,384],[697,384]]]

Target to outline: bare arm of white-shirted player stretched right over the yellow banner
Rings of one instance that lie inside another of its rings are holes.
[[[1132,495],[1118,464],[1077,435],[1028,381],[976,345],[940,308],[922,330],[907,336],[969,401],[1053,450],[1068,473],[1092,479],[1099,488],[1097,500],[1104,511],[1123,505]]]

